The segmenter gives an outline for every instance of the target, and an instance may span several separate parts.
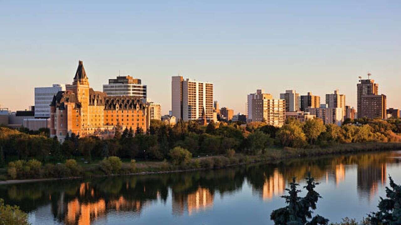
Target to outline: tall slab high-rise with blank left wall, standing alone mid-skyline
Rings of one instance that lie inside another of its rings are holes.
[[[183,121],[213,120],[213,84],[182,76],[171,79],[172,115]]]

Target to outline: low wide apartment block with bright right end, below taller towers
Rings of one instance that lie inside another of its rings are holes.
[[[340,126],[344,119],[342,108],[306,108],[306,112],[322,119],[324,124],[336,124]]]

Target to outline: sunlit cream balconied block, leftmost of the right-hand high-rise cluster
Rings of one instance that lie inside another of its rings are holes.
[[[249,119],[249,117],[251,117]],[[248,94],[248,122],[265,121],[281,127],[286,121],[286,100],[273,98],[271,94],[257,90]]]

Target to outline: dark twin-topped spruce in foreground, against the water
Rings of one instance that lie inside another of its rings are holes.
[[[318,183],[315,183],[314,178],[308,173],[308,177],[305,178],[307,185],[304,186],[308,193],[305,197],[299,197],[298,193],[301,190],[297,189],[299,186],[296,182],[296,178],[292,178],[292,183],[290,183],[290,189],[286,189],[289,195],[284,195],[282,198],[286,199],[288,204],[286,207],[273,210],[270,215],[270,219],[274,221],[277,225],[326,225],[328,224],[328,219],[316,215],[312,217],[313,211],[311,209],[316,209],[316,203],[318,199],[321,198],[319,193],[314,191],[314,188]],[[308,219],[311,219],[308,221]]]

